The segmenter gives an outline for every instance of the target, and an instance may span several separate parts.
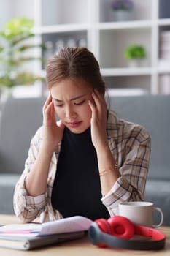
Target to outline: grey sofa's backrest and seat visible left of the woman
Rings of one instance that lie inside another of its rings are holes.
[[[31,137],[42,124],[43,98],[9,98],[0,105],[0,214],[14,214],[13,192]]]

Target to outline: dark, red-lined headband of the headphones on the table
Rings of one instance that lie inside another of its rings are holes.
[[[142,230],[152,236],[154,240],[150,241],[139,241],[139,240],[128,240],[125,238],[118,238],[116,236],[109,235],[101,231],[96,222],[92,222],[88,230],[88,238],[93,244],[105,244],[107,246],[112,246],[115,248],[122,249],[134,249],[134,250],[158,250],[163,249],[165,246],[166,236],[161,233],[161,231],[154,230],[150,227],[144,227],[136,225],[137,227],[142,227]],[[143,233],[142,233],[142,236]]]

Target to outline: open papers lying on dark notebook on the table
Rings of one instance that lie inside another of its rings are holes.
[[[11,224],[0,227],[0,247],[30,250],[82,238],[91,220],[74,216],[42,224]]]

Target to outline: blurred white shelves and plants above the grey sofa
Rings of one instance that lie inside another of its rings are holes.
[[[170,94],[169,0],[0,4],[1,97],[45,96],[46,59],[76,45],[93,51],[110,94]]]

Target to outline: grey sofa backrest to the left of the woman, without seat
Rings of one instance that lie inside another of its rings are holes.
[[[0,173],[22,173],[31,137],[42,125],[44,98],[9,98],[1,108]]]

